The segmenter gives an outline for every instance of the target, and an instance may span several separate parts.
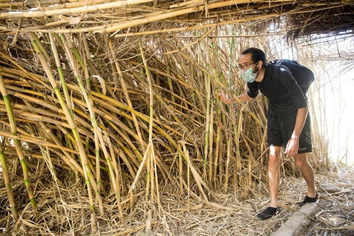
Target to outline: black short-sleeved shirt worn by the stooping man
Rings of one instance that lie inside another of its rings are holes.
[[[286,66],[281,65],[278,68],[273,64],[266,64],[265,69],[261,82],[247,83],[247,94],[255,98],[258,91],[261,91],[268,98],[269,116],[288,115],[299,108],[307,107],[307,99]]]

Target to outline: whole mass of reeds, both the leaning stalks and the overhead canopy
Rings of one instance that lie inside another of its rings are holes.
[[[312,37],[353,37],[354,1],[0,0],[0,22],[0,228],[74,235],[137,212],[151,226],[166,195],[222,208],[265,191],[266,98],[213,94],[247,89],[248,47],[311,68]]]

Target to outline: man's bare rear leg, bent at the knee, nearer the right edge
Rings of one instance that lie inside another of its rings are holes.
[[[310,198],[315,198],[316,197],[315,176],[314,176],[314,171],[312,169],[312,166],[307,160],[307,154],[306,153],[296,154],[294,156],[294,159],[295,159],[295,166],[297,166],[300,169],[302,176],[305,178],[305,181],[307,183],[307,196]]]

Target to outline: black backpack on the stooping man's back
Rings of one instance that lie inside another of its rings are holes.
[[[275,66],[279,65],[277,66],[278,67],[277,72],[279,71],[281,64],[288,67],[288,69],[292,72],[297,84],[300,86],[303,94],[306,94],[311,83],[315,80],[314,73],[309,68],[300,65],[296,60],[275,59],[269,61],[268,64],[274,64]]]

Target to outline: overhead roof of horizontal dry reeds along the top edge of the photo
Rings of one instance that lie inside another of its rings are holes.
[[[176,32],[252,22],[251,31],[269,25],[292,37],[314,33],[353,33],[354,1],[328,0],[13,0],[0,3],[0,30],[94,32],[117,36]],[[123,35],[119,35],[123,34]]]

